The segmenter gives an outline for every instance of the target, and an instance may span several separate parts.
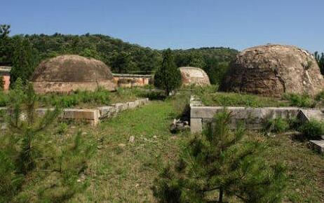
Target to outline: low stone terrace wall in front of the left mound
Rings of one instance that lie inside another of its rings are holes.
[[[59,116],[59,118],[66,119],[66,120],[83,121],[86,123],[90,123],[90,125],[95,126],[98,123],[100,123],[100,120],[104,120],[106,118],[113,118],[114,116],[117,116],[118,113],[120,113],[121,111],[125,111],[127,109],[135,109],[138,106],[147,104],[148,102],[149,99],[144,98],[144,99],[137,99],[134,102],[116,103],[113,104],[112,106],[101,106],[96,109],[63,109],[63,112]],[[6,108],[0,108],[0,110],[5,111]],[[39,113],[40,115],[44,115],[46,111],[53,111],[53,108],[36,109],[36,112]]]

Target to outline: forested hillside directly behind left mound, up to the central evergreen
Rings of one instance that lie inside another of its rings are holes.
[[[126,43],[118,38],[101,34],[26,35],[41,58],[62,54],[77,54],[102,60],[118,73],[150,73],[161,60],[160,52],[140,45]]]

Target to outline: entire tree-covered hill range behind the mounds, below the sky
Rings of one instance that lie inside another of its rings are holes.
[[[20,46],[15,41],[21,44],[26,39],[29,41],[27,44],[32,45],[36,53],[35,64],[42,59],[62,54],[77,54],[100,59],[111,66],[115,73],[152,73],[161,64],[162,50],[144,48],[101,34],[11,36],[11,42],[5,43],[6,47],[2,49],[7,56],[2,57],[2,61],[0,57],[0,64],[11,65],[12,52]],[[178,66],[202,67],[210,75],[212,83],[217,83],[237,52],[230,48],[197,48],[174,50],[174,55]]]

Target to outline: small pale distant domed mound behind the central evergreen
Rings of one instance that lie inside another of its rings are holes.
[[[182,85],[210,85],[207,73],[195,67],[180,67]]]

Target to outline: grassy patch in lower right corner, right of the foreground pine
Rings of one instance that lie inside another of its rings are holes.
[[[288,202],[324,202],[324,157],[311,151],[306,142],[287,135],[265,137],[251,132],[264,143],[262,156],[269,162],[283,162],[288,167],[285,191]]]

